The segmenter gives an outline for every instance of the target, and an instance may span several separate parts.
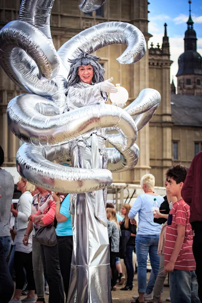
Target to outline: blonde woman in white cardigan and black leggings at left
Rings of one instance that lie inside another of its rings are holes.
[[[29,238],[29,243],[27,245],[23,244],[24,234],[28,225],[28,218],[31,215],[31,205],[32,205],[32,195],[31,191],[35,189],[35,186],[31,183],[25,181],[23,178],[19,178],[17,183],[17,189],[22,192],[19,198],[17,210],[14,209],[13,204],[11,206],[11,212],[16,217],[14,230],[17,231],[15,237],[15,273],[16,273],[16,290],[13,299],[10,303],[20,303],[20,295],[25,282],[24,270],[26,270],[27,275],[27,288],[28,296],[27,300],[22,300],[24,302],[29,301],[35,302],[35,283],[33,275],[32,266],[32,237]]]

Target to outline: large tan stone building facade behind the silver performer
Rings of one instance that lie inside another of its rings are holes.
[[[147,0],[107,0],[99,10],[85,14],[79,11],[79,0],[55,0],[51,15],[51,31],[56,49],[80,31],[95,24],[108,21],[129,22],[137,26],[148,43],[151,34],[147,31]],[[20,0],[0,0],[0,28],[18,19]],[[163,26],[163,25],[162,25]],[[135,169],[114,174],[114,182],[138,183],[141,176],[151,172],[156,176],[156,185],[164,184],[165,170],[172,165],[172,133],[174,123],[171,115],[171,87],[169,38],[165,24],[162,48],[151,45],[145,56],[133,65],[120,65],[116,58],[125,45],[110,45],[96,52],[102,58],[106,69],[105,78],[114,77],[113,83],[120,83],[129,92],[128,103],[146,88],[155,88],[162,95],[162,102],[151,119],[138,133],[137,144],[140,159]],[[21,142],[11,133],[7,125],[6,109],[9,101],[22,93],[0,68],[0,144],[5,150],[5,166],[14,167],[16,152]],[[202,142],[201,133],[199,135]],[[193,153],[190,160],[193,158]],[[189,159],[187,158],[187,159]]]

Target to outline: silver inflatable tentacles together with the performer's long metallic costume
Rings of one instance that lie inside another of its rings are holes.
[[[0,31],[1,66],[29,93],[10,101],[8,123],[25,142],[16,158],[20,175],[48,190],[71,193],[74,248],[68,302],[108,303],[112,298],[106,189],[112,172],[137,164],[137,132],[154,115],[161,96],[154,89],[143,89],[121,109],[105,104],[102,82],[87,88],[80,83],[67,96],[70,60],[78,57],[80,49],[91,54],[110,44],[126,44],[117,61],[132,64],[145,54],[146,43],[135,26],[107,22],[82,31],[56,52],[50,29],[53,3],[23,0],[19,20]],[[104,3],[83,0],[80,9],[92,12]],[[68,106],[70,97],[76,104],[73,110]],[[106,141],[114,147],[106,148]]]

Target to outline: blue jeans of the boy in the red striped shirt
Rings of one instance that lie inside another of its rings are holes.
[[[195,271],[174,269],[170,273],[170,297],[173,303],[200,303]]]

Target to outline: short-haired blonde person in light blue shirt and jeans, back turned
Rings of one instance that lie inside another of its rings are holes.
[[[153,287],[149,286],[149,290],[148,288],[146,289],[146,265],[148,254],[155,280],[159,272],[160,256],[158,255],[158,243],[162,226],[154,222],[154,213],[155,210],[159,211],[159,208],[164,201],[164,198],[154,191],[155,177],[153,175],[144,175],[140,180],[140,185],[144,193],[138,195],[128,214],[130,222],[133,224],[134,217],[138,213],[136,254],[139,297],[136,298],[135,301],[132,301],[136,303],[144,302],[144,299],[150,299],[150,288],[154,287],[153,285]]]

